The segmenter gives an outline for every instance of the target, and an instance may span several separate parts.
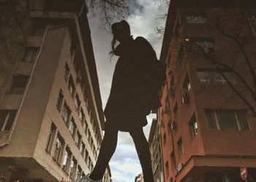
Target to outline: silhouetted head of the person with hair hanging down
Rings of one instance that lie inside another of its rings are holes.
[[[120,43],[127,41],[131,36],[131,31],[129,29],[129,24],[126,20],[121,20],[120,22],[113,23],[111,25],[111,30],[113,33],[112,49],[115,50],[116,40]]]

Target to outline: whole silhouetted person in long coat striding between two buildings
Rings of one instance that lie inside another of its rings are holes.
[[[151,155],[143,127],[147,124],[146,115],[160,106],[157,90],[150,79],[152,61],[157,59],[156,53],[143,37],[132,39],[129,24],[125,20],[114,23],[111,29],[113,54],[120,57],[116,63],[110,97],[104,111],[105,135],[94,170],[81,181],[102,179],[116,150],[118,131],[124,131],[129,132],[135,143],[144,180],[153,182]],[[117,47],[116,40],[120,42]]]

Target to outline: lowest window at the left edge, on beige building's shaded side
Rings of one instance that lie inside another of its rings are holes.
[[[15,115],[15,110],[0,109],[0,131],[9,131],[12,128]]]

